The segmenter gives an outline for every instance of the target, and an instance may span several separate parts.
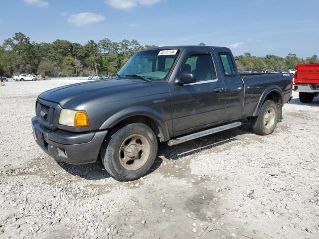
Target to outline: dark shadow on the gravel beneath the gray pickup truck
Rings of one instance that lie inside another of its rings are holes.
[[[152,174],[160,169],[164,160],[179,160],[185,156],[195,154],[200,151],[209,150],[213,147],[230,144],[237,141],[236,138],[242,134],[253,134],[251,124],[248,120],[242,120],[242,126],[211,134],[202,138],[197,138],[179,145],[168,146],[166,143],[159,143],[158,156],[151,170],[147,173]],[[230,144],[231,145],[231,144]],[[86,180],[101,180],[112,177],[104,168],[101,160],[96,163],[86,165],[71,165],[58,162],[59,166],[73,176],[78,176]]]

